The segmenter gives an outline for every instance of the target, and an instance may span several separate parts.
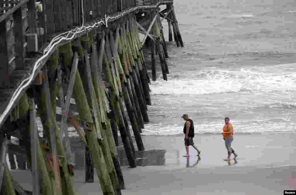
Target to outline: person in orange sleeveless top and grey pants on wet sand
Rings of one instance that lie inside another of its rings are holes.
[[[237,153],[235,153],[234,149],[231,148],[231,142],[233,141],[233,126],[229,123],[229,117],[224,118],[225,125],[223,126],[223,139],[225,140],[225,147],[227,149],[227,158],[226,160],[230,160],[231,153],[234,154],[234,158],[237,158]]]

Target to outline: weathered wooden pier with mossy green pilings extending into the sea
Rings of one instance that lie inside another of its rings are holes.
[[[30,163],[33,195],[74,195],[69,126],[85,144],[85,182],[94,181],[96,168],[103,194],[121,194],[118,131],[136,167],[152,104],[143,47],[151,49],[152,80],[156,55],[163,79],[169,74],[164,19],[169,41],[172,26],[183,47],[173,1],[0,0],[0,194],[28,194],[9,174],[13,149]],[[19,144],[7,144],[11,136]]]

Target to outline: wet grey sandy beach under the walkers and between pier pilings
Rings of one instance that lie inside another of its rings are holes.
[[[230,163],[223,161],[226,149],[221,135],[195,135],[194,142],[202,151],[200,160],[193,148],[189,158],[182,157],[183,136],[142,139],[145,151],[136,152],[139,164],[136,168],[128,168],[123,147],[118,147],[126,185],[122,194],[269,195],[296,190],[295,133],[237,134],[233,147],[239,156]],[[96,173],[94,183],[84,183],[83,158],[78,156],[83,147],[78,145],[76,142],[75,190],[78,195],[102,194]],[[28,170],[12,170],[12,176],[26,190],[31,190]]]

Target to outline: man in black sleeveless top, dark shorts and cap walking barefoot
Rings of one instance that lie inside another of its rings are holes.
[[[193,137],[194,137],[193,121],[189,118],[188,114],[184,114],[181,118],[183,118],[186,121],[183,129],[185,134],[184,142],[185,142],[185,149],[186,149],[186,155],[184,155],[184,157],[189,157],[189,145],[191,145],[197,151],[197,156],[199,156],[200,150],[198,150],[193,143]]]

